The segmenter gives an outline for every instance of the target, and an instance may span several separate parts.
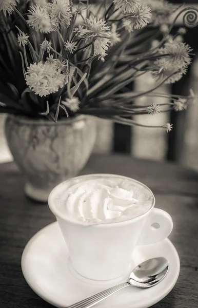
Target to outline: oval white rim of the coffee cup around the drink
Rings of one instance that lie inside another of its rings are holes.
[[[98,177],[98,176],[103,176],[103,177],[119,177],[119,178],[125,178],[125,179],[128,179],[128,180],[132,180],[133,182],[136,182],[138,184],[141,184],[143,187],[145,187],[147,190],[150,191],[150,194],[153,198],[153,204],[152,206],[143,214],[141,215],[138,215],[134,218],[130,218],[128,220],[124,220],[124,221],[116,221],[116,222],[107,222],[107,223],[99,223],[99,224],[84,224],[84,223],[81,223],[79,221],[72,221],[70,219],[67,219],[64,215],[62,215],[62,213],[60,213],[60,211],[58,211],[53,203],[53,196],[55,194],[55,192],[61,187],[63,186],[65,183],[69,182],[71,179],[80,179],[80,178],[88,178],[88,177]],[[83,226],[83,227],[97,227],[97,228],[104,228],[104,227],[112,227],[112,226],[120,226],[120,225],[127,225],[129,224],[131,221],[136,221],[138,219],[141,219],[142,217],[146,216],[149,211],[151,209],[153,209],[154,205],[155,205],[155,197],[153,195],[153,192],[152,190],[147,186],[145,185],[144,183],[140,182],[140,181],[137,181],[133,178],[129,178],[129,177],[126,177],[126,176],[122,176],[122,175],[116,175],[116,174],[86,174],[86,175],[81,175],[81,176],[77,176],[77,177],[73,177],[71,179],[68,179],[58,185],[56,185],[51,191],[50,191],[50,194],[49,194],[49,197],[48,197],[48,206],[51,210],[51,212],[55,215],[56,218],[60,218],[60,219],[63,219],[64,221],[70,223],[70,224],[73,224],[73,225],[78,225],[78,226]]]

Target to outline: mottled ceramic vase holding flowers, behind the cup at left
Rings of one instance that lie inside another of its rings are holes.
[[[95,142],[95,118],[78,115],[57,123],[9,114],[5,132],[25,179],[25,194],[47,202],[49,192],[87,163]]]

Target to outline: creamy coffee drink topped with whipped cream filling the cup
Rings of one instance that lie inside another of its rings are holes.
[[[151,190],[116,175],[87,175],[60,185],[53,202],[65,219],[86,224],[114,223],[146,213],[154,203]]]

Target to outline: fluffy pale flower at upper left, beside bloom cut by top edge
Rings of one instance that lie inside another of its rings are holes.
[[[31,7],[29,12],[31,13],[31,15],[28,15],[29,20],[27,20],[29,26],[44,33],[54,31],[50,16],[44,7],[35,5]]]

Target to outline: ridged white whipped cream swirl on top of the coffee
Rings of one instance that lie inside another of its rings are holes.
[[[92,179],[77,183],[67,191],[65,214],[87,223],[117,220],[130,215],[137,204],[133,192],[110,185],[108,181]]]

